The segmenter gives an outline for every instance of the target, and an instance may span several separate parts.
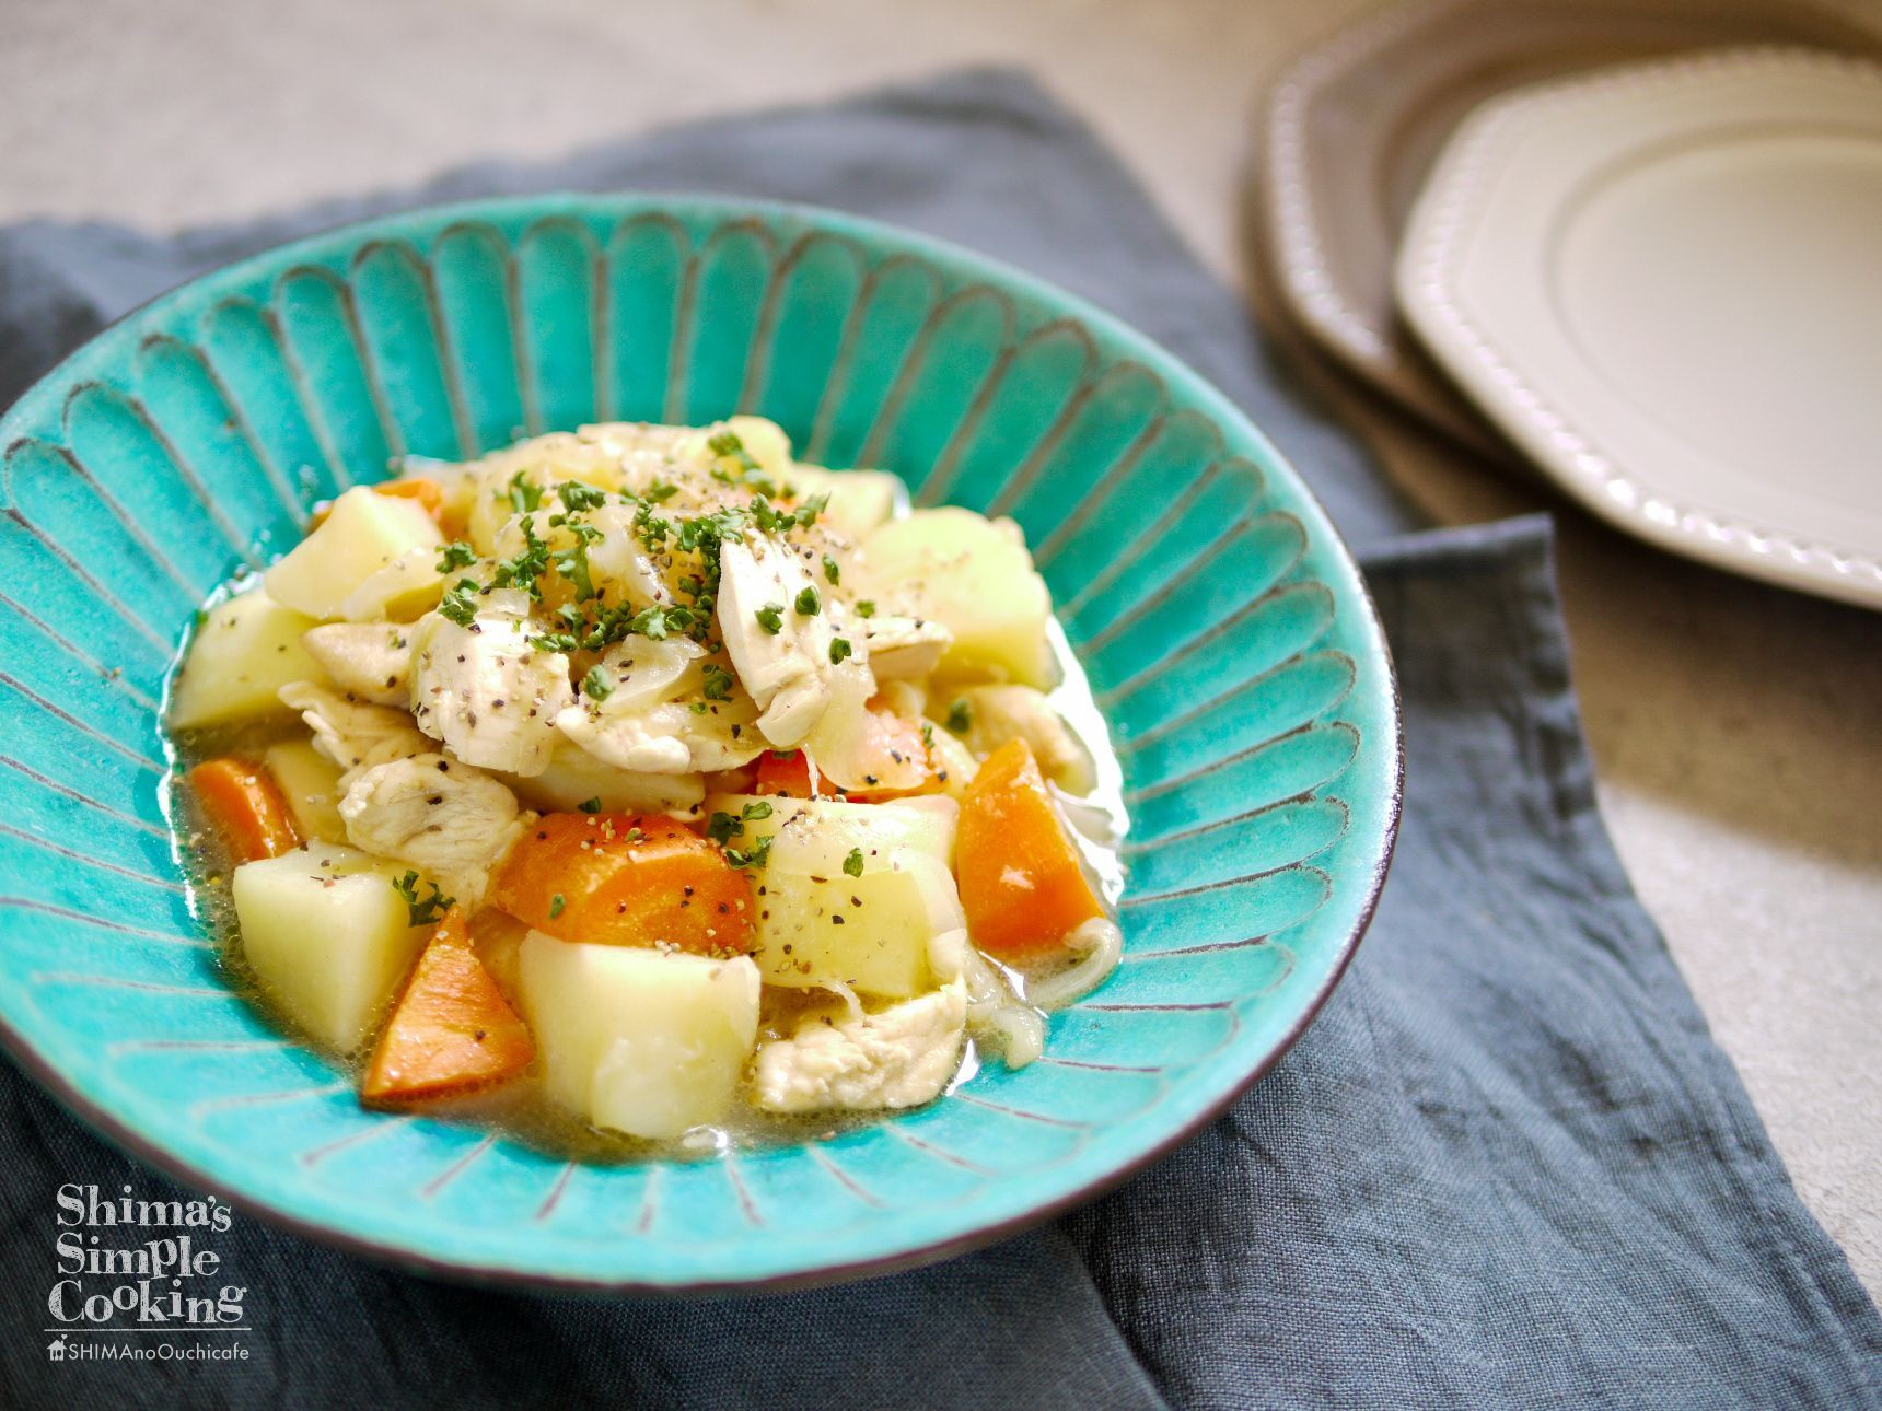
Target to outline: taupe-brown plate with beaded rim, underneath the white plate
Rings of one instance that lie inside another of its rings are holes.
[[[1263,245],[1289,312],[1398,403],[1494,450],[1393,305],[1398,235],[1438,151],[1513,87],[1731,43],[1882,53],[1852,21],[1786,0],[1436,0],[1338,32],[1282,75],[1267,111]]]

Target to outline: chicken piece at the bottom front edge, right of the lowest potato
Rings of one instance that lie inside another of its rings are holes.
[[[920,1106],[954,1076],[965,1035],[962,978],[873,1014],[817,1012],[790,1038],[758,1046],[753,1102],[766,1112]]]

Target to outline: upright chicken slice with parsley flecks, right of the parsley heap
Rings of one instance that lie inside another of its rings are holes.
[[[813,613],[798,611],[805,591],[819,598]],[[777,632],[758,619],[760,611],[777,623]],[[775,538],[725,544],[717,613],[726,655],[758,706],[758,730],[777,749],[800,745],[830,706],[834,638],[828,604],[809,566]],[[862,657],[866,645],[851,640],[851,649]]]

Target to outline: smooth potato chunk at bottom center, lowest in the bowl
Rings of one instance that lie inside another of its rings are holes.
[[[518,958],[544,1091],[597,1127],[679,1136],[732,1106],[758,1035],[758,969],[531,931]]]

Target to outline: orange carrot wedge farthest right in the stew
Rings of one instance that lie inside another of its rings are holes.
[[[954,860],[967,935],[996,959],[1041,959],[1105,914],[1024,739],[988,754],[967,785]]]

